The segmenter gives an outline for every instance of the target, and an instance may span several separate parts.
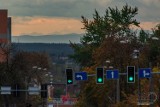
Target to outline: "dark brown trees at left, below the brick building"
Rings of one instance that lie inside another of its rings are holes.
[[[8,46],[8,45],[7,45]],[[26,87],[26,77],[37,78],[39,83],[42,83],[44,71],[33,74],[33,65],[39,67],[50,68],[50,59],[45,53],[29,53],[16,51],[16,48],[10,46],[6,48],[6,45],[1,45],[1,54],[5,56],[3,62],[0,63],[0,84],[1,86],[20,84],[21,89]],[[12,54],[11,54],[12,53]],[[28,79],[28,82],[30,80]],[[25,94],[21,94],[19,98],[13,96],[0,96],[0,104],[6,103],[7,107],[12,103],[25,103]],[[34,102],[36,102],[34,100]],[[0,105],[2,106],[2,105]]]

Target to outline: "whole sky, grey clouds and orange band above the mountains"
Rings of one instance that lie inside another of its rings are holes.
[[[0,9],[12,17],[12,35],[85,33],[81,16],[101,16],[108,7],[138,7],[136,19],[145,30],[160,23],[160,0],[0,0]]]

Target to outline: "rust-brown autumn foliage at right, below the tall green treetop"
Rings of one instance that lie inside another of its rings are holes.
[[[110,60],[110,64],[120,70],[120,72],[126,72],[126,66],[129,65],[136,65],[136,67],[140,68],[147,68],[151,67],[154,68],[155,66],[159,66],[159,59],[160,59],[160,53],[159,53],[159,47],[160,47],[160,40],[159,40],[159,25],[157,25],[153,29],[152,35],[149,33],[146,33],[143,29],[140,31],[139,36],[131,34],[131,39],[129,38],[117,38],[116,36],[111,36],[105,38],[105,40],[101,43],[99,47],[95,49],[95,51],[92,52],[92,58],[94,60],[94,65],[87,67],[87,69],[84,69],[85,71],[89,73],[95,72],[95,68],[97,66],[104,67],[107,63],[106,60]],[[154,38],[156,37],[156,38]],[[122,41],[123,40],[123,41]],[[133,50],[138,49],[140,52],[136,53],[137,58],[133,58]],[[92,61],[93,61],[92,60]],[[108,68],[107,68],[108,69]],[[157,68],[159,69],[159,68]],[[95,78],[91,78],[87,83],[83,84],[83,88],[81,91],[81,97],[80,101],[77,103],[79,106],[97,106],[97,107],[107,107],[107,106],[115,106],[115,107],[121,107],[121,106],[129,106],[129,105],[137,105],[138,101],[138,87],[136,84],[138,82],[136,81],[135,84],[130,85],[126,83],[126,79],[121,76],[120,78],[120,95],[121,95],[121,101],[119,103],[115,104],[114,99],[114,93],[115,91],[115,83],[113,81],[105,81],[104,85],[97,86],[95,84]],[[154,76],[154,82],[153,89],[155,93],[157,93],[160,90],[160,87],[158,87],[157,84],[159,84],[159,76]],[[141,85],[141,96],[142,98],[148,98],[147,97],[150,93],[150,85],[149,81],[147,79],[142,80],[140,82]],[[85,88],[84,88],[85,87]],[[96,88],[98,87],[98,88]],[[107,90],[106,90],[107,89]],[[90,90],[90,91],[87,91]],[[89,93],[92,92],[92,95]],[[89,97],[87,97],[89,96]],[[106,98],[106,97],[110,98]],[[93,100],[94,99],[94,100]],[[134,99],[134,100],[133,100]],[[112,101],[113,100],[113,101]],[[154,105],[159,105],[159,101],[155,102]]]

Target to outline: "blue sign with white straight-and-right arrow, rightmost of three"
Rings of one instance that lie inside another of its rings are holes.
[[[151,77],[151,68],[140,68],[138,70],[139,78],[150,78]]]

